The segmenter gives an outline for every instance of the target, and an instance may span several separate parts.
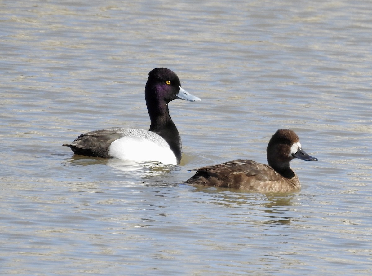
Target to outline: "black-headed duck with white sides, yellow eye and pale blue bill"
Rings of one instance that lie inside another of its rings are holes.
[[[87,132],[70,144],[74,154],[100,158],[119,158],[139,162],[178,165],[182,158],[180,134],[169,115],[169,102],[181,99],[199,102],[181,87],[178,76],[167,68],[148,73],[145,102],[150,129],[113,127]]]

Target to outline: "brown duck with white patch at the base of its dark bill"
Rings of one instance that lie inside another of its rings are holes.
[[[278,129],[266,149],[267,163],[237,159],[194,169],[186,184],[243,189],[251,192],[294,192],[301,184],[289,166],[295,158],[318,161],[302,150],[298,135],[291,129]]]

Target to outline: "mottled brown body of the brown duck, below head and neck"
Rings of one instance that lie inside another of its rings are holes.
[[[185,183],[245,189],[259,192],[289,192],[296,189],[298,178],[286,179],[272,167],[252,160],[233,160],[196,169]]]

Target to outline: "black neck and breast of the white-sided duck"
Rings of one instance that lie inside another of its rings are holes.
[[[149,131],[158,134],[168,143],[170,149],[177,158],[177,164],[179,164],[182,157],[182,142],[176,125],[174,125],[170,118],[168,104],[163,102],[157,105],[147,106],[151,121]]]

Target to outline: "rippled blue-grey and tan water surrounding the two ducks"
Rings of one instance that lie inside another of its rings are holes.
[[[1,1],[2,275],[370,275],[369,1]],[[180,166],[73,156],[110,126],[147,129],[148,72],[174,101]],[[266,162],[278,128],[298,193],[183,185]]]

